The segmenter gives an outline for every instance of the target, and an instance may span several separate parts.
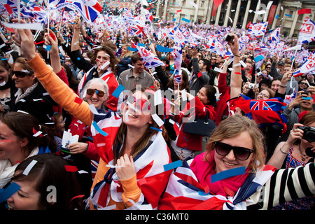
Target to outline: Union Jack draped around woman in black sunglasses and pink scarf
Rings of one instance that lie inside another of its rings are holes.
[[[249,174],[234,197],[212,195],[202,186],[188,162],[171,174],[158,209],[161,210],[244,210],[246,200],[274,174],[274,167],[265,165],[256,174]],[[210,189],[211,192],[211,189]]]

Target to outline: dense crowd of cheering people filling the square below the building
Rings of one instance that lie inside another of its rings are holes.
[[[293,77],[307,55],[257,64],[237,32],[218,38],[221,55],[155,33],[94,34],[80,16],[51,27],[2,27],[0,194],[19,188],[1,209],[314,209],[314,75]]]

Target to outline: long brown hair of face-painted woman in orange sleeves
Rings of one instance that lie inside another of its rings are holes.
[[[148,87],[141,87],[141,92],[146,94],[146,90],[151,90]],[[135,92],[135,91],[133,91]],[[151,104],[151,106],[153,106]],[[158,106],[156,106],[156,110],[158,111]],[[158,115],[161,119],[162,116]],[[148,146],[148,143],[151,139],[151,137],[153,136],[153,134],[156,134],[158,131],[154,130],[153,128],[158,128],[160,129],[160,127],[158,126],[157,123],[155,123],[155,121],[153,120],[152,125],[149,124],[148,128],[146,130],[146,132],[144,132],[144,135],[134,144],[134,146],[132,146],[132,158],[135,158],[139,153],[141,153],[141,151],[144,150],[144,148],[146,148],[146,146]],[[116,134],[116,138],[115,141],[113,143],[113,151],[114,151],[114,161],[116,162],[118,158],[120,158],[120,156],[123,156],[123,151],[125,148],[125,136],[127,134],[127,125],[125,125],[125,123],[122,123],[118,129],[118,133]],[[116,155],[116,148],[121,145],[122,148],[120,150],[120,153],[118,155]]]

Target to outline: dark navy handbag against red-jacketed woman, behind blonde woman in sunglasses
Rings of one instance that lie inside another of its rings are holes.
[[[183,132],[188,134],[199,134],[202,136],[211,137],[212,131],[216,128],[216,123],[209,119],[209,111],[205,118],[198,118],[195,116],[193,122],[185,123]]]

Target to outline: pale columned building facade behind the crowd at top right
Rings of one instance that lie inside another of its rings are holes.
[[[156,16],[162,20],[181,22],[182,18],[186,18],[190,22],[244,29],[250,22],[268,21],[267,29],[281,26],[281,34],[290,38],[297,38],[305,17],[313,21],[315,19],[314,0],[224,0],[219,6],[216,6],[215,1],[156,0],[154,5]],[[297,10],[302,8],[311,9],[311,13],[298,15]]]

